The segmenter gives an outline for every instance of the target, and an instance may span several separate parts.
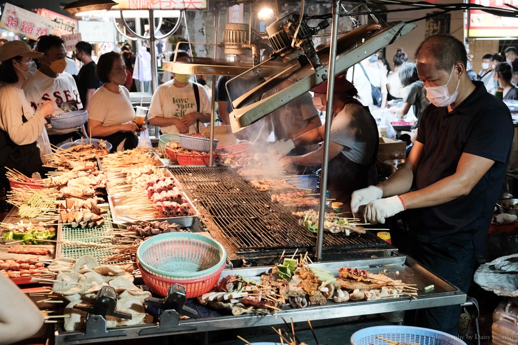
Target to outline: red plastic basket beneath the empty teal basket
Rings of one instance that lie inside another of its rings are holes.
[[[173,284],[181,284],[185,287],[185,295],[187,298],[193,298],[203,295],[209,292],[218,283],[221,272],[225,268],[225,263],[218,268],[218,271],[201,278],[195,279],[168,279],[155,276],[144,269],[137,260],[137,266],[142,274],[142,280],[148,286],[148,288],[161,296],[167,295],[167,290]]]

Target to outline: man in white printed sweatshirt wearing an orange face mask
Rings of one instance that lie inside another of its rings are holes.
[[[25,80],[22,85],[27,100],[36,111],[41,103],[46,100],[54,101],[54,114],[83,109],[76,81],[71,74],[65,72],[67,66],[65,59],[64,41],[57,36],[41,36],[38,39],[36,49],[44,56],[40,58],[40,68],[33,77]],[[68,141],[71,137],[79,138],[79,130],[54,129],[46,126],[50,142],[58,145]]]

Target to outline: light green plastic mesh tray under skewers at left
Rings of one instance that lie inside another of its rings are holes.
[[[106,235],[109,229],[113,227],[111,223],[111,211],[109,205],[100,204],[102,208],[108,209],[108,212],[103,215],[104,224],[101,227],[94,227],[90,229],[71,228],[68,225],[63,225],[61,222],[57,226],[57,241],[79,241],[79,242],[91,242],[91,243],[104,243],[111,244],[106,239],[103,240],[102,236]],[[131,260],[126,261],[104,261],[107,257],[111,257],[116,252],[109,249],[109,247],[91,247],[91,246],[77,246],[77,245],[66,245],[58,242],[56,245],[56,258],[72,258],[78,259],[85,255],[93,256],[99,264],[118,264],[118,263],[130,263]]]

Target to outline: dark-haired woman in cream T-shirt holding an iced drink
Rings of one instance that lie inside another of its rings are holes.
[[[94,138],[102,138],[113,145],[112,151],[137,147],[138,129],[130,92],[123,85],[126,81],[126,65],[116,52],[99,57],[95,69],[97,78],[104,83],[90,100],[88,130]]]

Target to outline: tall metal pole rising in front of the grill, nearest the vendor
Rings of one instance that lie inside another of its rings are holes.
[[[335,91],[335,65],[336,65],[336,44],[338,37],[338,16],[340,0],[333,0],[333,24],[331,28],[331,46],[329,49],[329,72],[327,79],[327,104],[325,113],[325,134],[324,134],[324,157],[322,160],[322,172],[320,177],[320,208],[319,208],[319,230],[316,236],[316,260],[322,260],[322,247],[324,244],[324,219],[325,219],[325,192],[327,189],[327,170],[329,163],[329,139],[331,132],[331,121],[333,118],[333,93]]]

